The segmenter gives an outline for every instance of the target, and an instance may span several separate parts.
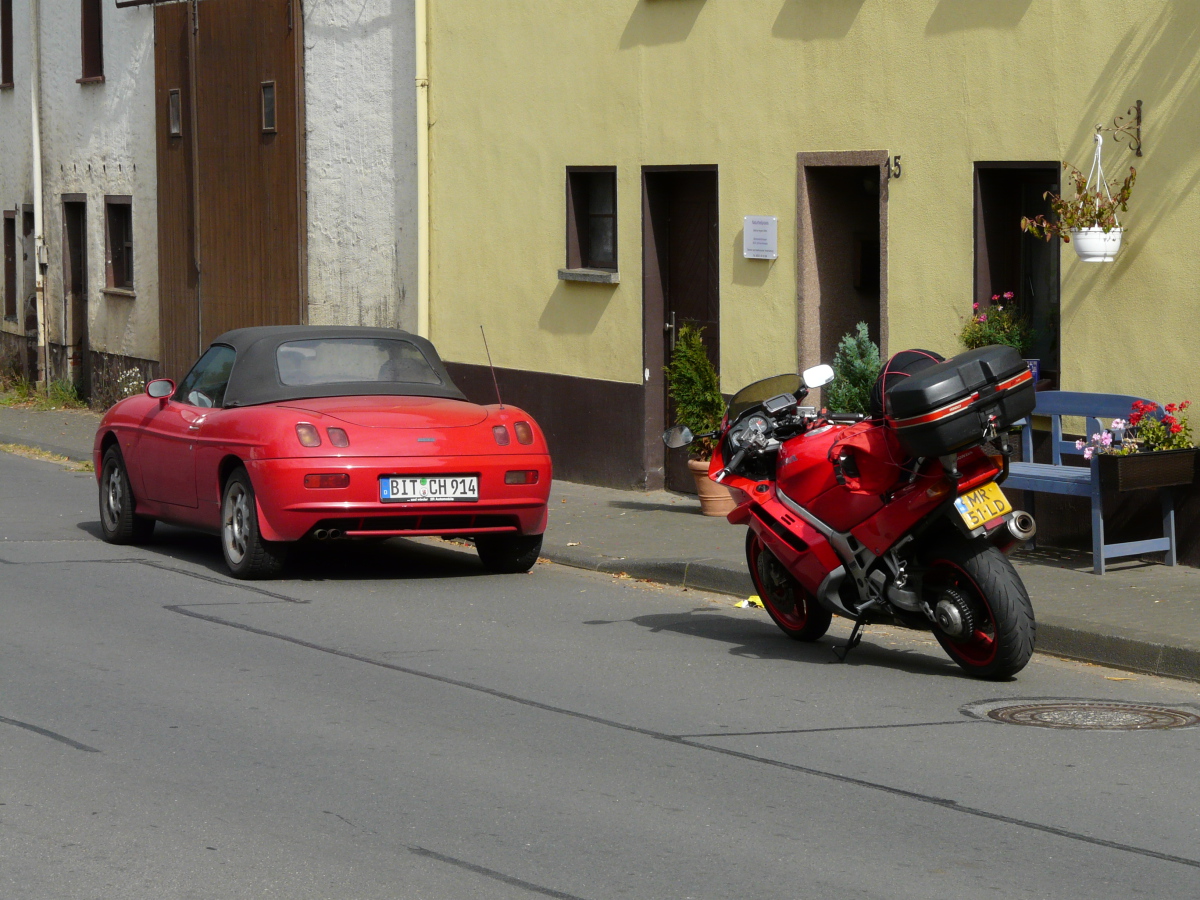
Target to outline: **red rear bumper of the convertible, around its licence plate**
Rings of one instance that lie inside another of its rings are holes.
[[[294,541],[318,530],[337,536],[541,534],[551,464],[545,455],[326,457],[246,463],[263,538]],[[538,472],[532,485],[505,484],[509,472]],[[348,487],[308,488],[305,475],[348,474]],[[384,475],[478,475],[479,499],[392,503],[379,499]]]

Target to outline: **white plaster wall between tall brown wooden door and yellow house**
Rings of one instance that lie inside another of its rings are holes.
[[[306,0],[308,322],[416,328],[413,0]]]

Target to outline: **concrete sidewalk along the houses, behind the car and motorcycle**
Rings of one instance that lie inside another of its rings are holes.
[[[98,416],[0,407],[0,444],[89,460]],[[556,481],[542,554],[700,590],[754,593],[745,528],[700,515],[690,497]],[[1200,570],[1138,560],[1092,574],[1086,553],[1038,550],[1014,563],[1033,598],[1038,650],[1200,680]]]

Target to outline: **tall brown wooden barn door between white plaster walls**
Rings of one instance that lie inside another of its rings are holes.
[[[155,7],[164,374],[222,331],[305,318],[300,14],[296,0]]]

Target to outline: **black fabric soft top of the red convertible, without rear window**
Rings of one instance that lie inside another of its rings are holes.
[[[418,347],[430,367],[442,379],[442,384],[414,384],[407,382],[349,382],[346,384],[283,384],[280,380],[276,352],[289,341],[313,341],[329,337],[368,337],[386,341],[408,341]],[[433,344],[424,337],[391,328],[354,328],[326,325],[262,325],[226,331],[212,343],[233,347],[238,358],[229,373],[226,389],[226,407],[248,407],[275,403],[283,400],[311,400],[313,397],[397,396],[397,397],[467,397],[450,380],[442,358]]]

